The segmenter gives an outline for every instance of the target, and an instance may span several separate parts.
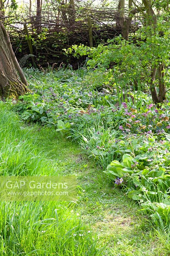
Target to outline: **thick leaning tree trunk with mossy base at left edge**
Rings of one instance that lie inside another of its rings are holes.
[[[14,55],[4,25],[0,21],[0,98],[16,99],[29,91],[26,86],[26,78]]]

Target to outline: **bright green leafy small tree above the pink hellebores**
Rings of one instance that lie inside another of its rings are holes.
[[[117,36],[96,48],[80,44],[64,50],[66,54],[72,54],[74,57],[88,56],[89,69],[108,69],[109,72],[111,69],[114,76],[122,79],[126,77],[127,84],[132,84],[133,81],[134,87],[140,80],[140,83],[144,84],[143,90],[147,90],[149,85],[152,100],[157,103],[165,99],[166,88],[169,88],[170,84],[169,36],[168,17],[163,13],[159,16],[156,28],[144,26],[129,41]],[[155,75],[153,69],[156,69]],[[156,87],[159,88],[158,95]]]

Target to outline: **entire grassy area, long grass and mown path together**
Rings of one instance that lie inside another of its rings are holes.
[[[0,255],[169,255],[168,237],[156,233],[138,205],[107,183],[77,144],[54,129],[26,126],[8,108],[1,104],[2,174],[75,174],[78,204],[1,202]]]

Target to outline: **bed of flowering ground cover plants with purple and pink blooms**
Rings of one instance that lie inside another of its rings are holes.
[[[90,74],[82,68],[41,76],[30,69],[32,93],[15,108],[26,122],[41,122],[78,141],[106,178],[139,202],[157,226],[170,230],[170,102],[156,106],[149,94],[131,88],[134,100],[123,101],[116,94],[123,87],[111,75],[104,85],[112,81],[112,88],[102,91]]]

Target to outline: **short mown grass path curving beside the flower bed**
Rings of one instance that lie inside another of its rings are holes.
[[[54,130],[42,128],[37,133],[57,171],[77,176],[79,203],[74,210],[82,214],[86,224],[90,223],[103,245],[107,244],[106,255],[169,255],[165,238],[156,238],[139,207],[121,190],[106,184],[102,171],[81,155],[76,144],[63,140]]]

